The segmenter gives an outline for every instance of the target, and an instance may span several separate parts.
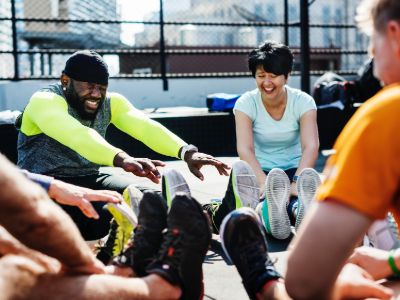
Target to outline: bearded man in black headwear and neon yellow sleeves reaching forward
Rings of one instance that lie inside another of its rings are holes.
[[[158,160],[135,158],[105,140],[110,123],[163,155],[184,160],[200,179],[203,165],[215,166],[227,175],[229,167],[214,157],[200,153],[178,136],[137,110],[123,95],[108,92],[108,68],[94,51],[77,51],[65,64],[60,83],[50,85],[31,97],[17,120],[18,166],[30,172],[53,176],[91,189],[109,189],[123,194],[132,203],[137,180],[131,174],[110,173],[100,166],[121,167],[136,176],[158,183]],[[85,240],[107,235],[111,215],[102,204],[93,203],[98,220],[87,219],[79,209],[63,206],[78,225]],[[121,213],[110,206],[116,222],[117,238],[112,255],[129,239],[132,226],[121,223]],[[115,227],[113,227],[115,228]],[[113,235],[111,235],[113,236]]]

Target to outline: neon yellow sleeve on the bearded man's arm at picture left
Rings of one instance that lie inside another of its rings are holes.
[[[65,99],[49,92],[32,96],[24,111],[21,131],[28,136],[44,133],[100,165],[113,166],[115,155],[122,151],[69,115]]]

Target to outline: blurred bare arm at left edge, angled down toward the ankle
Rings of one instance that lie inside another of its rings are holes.
[[[104,272],[69,216],[1,155],[0,190],[0,224],[14,237],[67,269]]]

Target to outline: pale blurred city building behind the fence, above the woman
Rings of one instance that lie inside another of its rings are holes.
[[[311,70],[357,70],[366,56],[343,53],[347,50],[365,51],[367,39],[355,28],[355,7],[360,0],[315,0],[310,1],[310,48]],[[188,4],[189,2],[189,4]],[[173,5],[172,5],[173,3]],[[179,5],[179,4],[182,5]],[[297,50],[300,48],[300,1],[288,0],[289,46]],[[158,21],[159,13],[154,12],[145,19]],[[164,21],[176,22],[164,27],[165,44],[168,49],[241,49],[253,48],[267,39],[284,42],[284,1],[275,0],[166,0],[164,1]],[[198,24],[212,22],[212,26]],[[267,22],[267,25],[253,26],[248,22]],[[186,23],[186,24],[182,24]],[[226,23],[241,23],[240,26],[229,26]],[[279,25],[279,26],[278,26]],[[323,26],[328,25],[328,26]],[[159,43],[160,33],[158,26],[145,26],[144,31],[135,35],[135,47],[155,47]],[[313,51],[315,50],[315,51]],[[235,56],[230,56],[237,59]],[[204,66],[209,56],[198,56],[197,65]],[[299,57],[296,57],[295,69],[300,69]],[[126,58],[128,60],[128,58]],[[174,63],[169,55],[168,72],[175,73],[182,69]],[[194,62],[196,57],[180,56],[182,65],[187,61]],[[242,58],[244,60],[245,57]],[[215,61],[214,61],[215,62]],[[138,62],[139,63],[139,62]],[[137,70],[149,68],[140,62]],[[234,62],[232,61],[232,64]],[[132,65],[132,63],[131,63]],[[134,65],[134,64],[133,64]],[[153,65],[157,66],[156,62]],[[209,64],[209,72],[215,72],[218,64]],[[122,67],[122,66],[121,66]],[[122,70],[123,68],[121,68]],[[150,68],[153,72],[157,67]],[[204,69],[204,68],[200,68]],[[226,68],[225,68],[226,69]],[[127,73],[136,72],[126,70]],[[193,72],[199,70],[194,69]],[[225,70],[220,70],[221,72]],[[246,67],[236,71],[246,71]]]

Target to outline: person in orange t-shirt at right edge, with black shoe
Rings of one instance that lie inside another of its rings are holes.
[[[357,20],[371,34],[374,74],[385,87],[336,141],[318,202],[290,246],[284,284],[254,212],[242,209],[224,220],[224,249],[254,299],[391,299],[400,287],[375,281],[400,275],[398,249],[361,248],[349,259],[373,221],[389,211],[400,221],[400,1],[363,0]]]

